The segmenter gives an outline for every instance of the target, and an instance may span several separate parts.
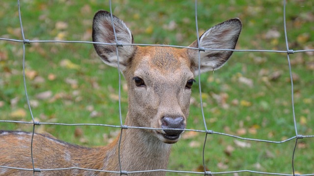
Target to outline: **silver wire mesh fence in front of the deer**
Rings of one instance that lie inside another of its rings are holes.
[[[31,105],[29,102],[29,98],[28,98],[28,94],[27,94],[27,86],[26,86],[26,73],[25,73],[25,53],[26,53],[26,49],[25,49],[25,45],[26,44],[30,44],[30,43],[41,43],[41,42],[47,42],[47,43],[51,43],[51,42],[60,42],[60,43],[87,43],[87,44],[97,44],[94,42],[84,42],[84,41],[29,41],[25,38],[24,35],[24,31],[23,31],[23,25],[22,25],[22,15],[21,15],[21,10],[20,10],[20,0],[17,0],[18,3],[18,13],[19,13],[19,21],[20,21],[20,27],[21,27],[21,32],[22,32],[22,41],[20,40],[14,40],[14,39],[3,39],[0,38],[0,40],[3,41],[12,41],[12,42],[23,42],[23,83],[24,83],[24,89],[25,89],[25,96],[26,96],[26,102],[27,102],[27,106],[28,106],[28,110],[30,112],[30,116],[32,118],[32,122],[30,122],[31,124],[33,124],[33,129],[32,129],[32,138],[31,138],[31,144],[30,144],[30,148],[31,148],[31,160],[32,160],[32,171],[33,171],[33,175],[35,175],[35,172],[41,172],[41,171],[53,171],[53,170],[67,170],[67,169],[81,169],[81,170],[89,170],[89,171],[98,171],[98,172],[108,172],[108,173],[117,173],[120,175],[127,175],[128,173],[141,173],[141,172],[157,172],[157,171],[164,171],[164,172],[174,172],[174,173],[190,173],[190,174],[203,174],[203,175],[212,175],[212,174],[232,174],[232,173],[242,173],[242,172],[249,172],[249,173],[254,173],[254,174],[265,174],[265,175],[281,175],[281,176],[314,176],[313,174],[306,174],[306,175],[300,175],[300,174],[296,174],[295,173],[295,166],[294,166],[294,155],[295,155],[295,151],[296,151],[296,146],[298,143],[298,139],[304,138],[304,137],[314,137],[314,135],[308,135],[308,136],[303,136],[298,134],[298,130],[297,130],[297,123],[296,123],[296,118],[295,118],[295,112],[294,112],[294,94],[293,94],[293,79],[292,79],[292,70],[291,70],[291,63],[290,63],[290,58],[289,58],[289,54],[293,54],[295,52],[306,52],[306,51],[314,51],[314,50],[298,50],[298,51],[293,51],[292,49],[289,49],[288,46],[288,35],[287,35],[287,26],[286,26],[286,0],[283,0],[283,8],[284,8],[284,31],[285,31],[285,42],[286,42],[286,46],[287,46],[287,51],[276,51],[276,50],[236,50],[236,49],[232,49],[231,51],[238,51],[238,52],[281,52],[281,53],[287,53],[287,58],[288,58],[288,67],[289,67],[289,74],[290,74],[290,82],[291,82],[291,106],[292,106],[292,115],[293,115],[293,121],[294,121],[294,129],[295,129],[295,136],[291,137],[287,140],[284,141],[268,141],[268,140],[261,140],[261,139],[251,139],[251,138],[242,138],[239,136],[235,136],[235,135],[231,135],[231,134],[225,134],[225,133],[221,133],[221,132],[212,132],[210,130],[208,130],[207,125],[206,125],[206,120],[205,120],[205,114],[204,114],[204,110],[203,110],[203,100],[202,100],[202,90],[201,90],[201,81],[199,79],[198,84],[199,84],[199,94],[200,94],[200,104],[201,104],[201,111],[202,111],[202,118],[203,118],[203,122],[204,122],[204,127],[205,127],[205,131],[201,131],[201,130],[190,130],[190,129],[186,129],[185,131],[195,131],[195,132],[205,132],[205,139],[204,139],[204,145],[203,145],[203,151],[202,151],[202,158],[203,158],[203,167],[204,167],[204,172],[192,172],[192,171],[172,171],[172,170],[150,170],[150,171],[133,171],[133,172],[128,172],[128,171],[124,171],[122,168],[123,166],[121,165],[121,158],[120,158],[120,148],[121,148],[121,139],[122,139],[122,133],[124,129],[127,128],[135,128],[135,129],[152,129],[152,130],[160,130],[160,129],[154,129],[154,128],[143,128],[143,127],[126,127],[125,125],[123,125],[122,122],[122,113],[121,113],[121,73],[120,73],[120,68],[119,68],[119,51],[118,51],[118,47],[122,47],[123,45],[128,45],[128,44],[121,44],[118,40],[117,40],[117,36],[116,36],[116,31],[115,31],[115,26],[114,26],[114,22],[113,22],[113,15],[112,15],[112,4],[111,4],[111,0],[109,0],[109,7],[110,7],[110,15],[111,15],[111,22],[112,22],[112,28],[113,28],[113,32],[114,32],[114,37],[115,37],[115,44],[110,44],[110,45],[116,45],[116,55],[118,58],[118,74],[119,74],[119,82],[118,82],[118,89],[119,89],[119,120],[120,120],[120,126],[110,126],[110,125],[101,125],[101,124],[60,124],[60,123],[47,123],[47,122],[43,122],[43,123],[39,123],[36,122],[34,120],[33,117],[33,113],[31,110]],[[198,73],[200,75],[200,52],[203,52],[205,50],[214,50],[214,49],[210,49],[210,48],[202,48],[200,45],[200,39],[199,39],[199,32],[198,32],[198,20],[197,20],[197,0],[195,0],[195,25],[196,25],[196,35],[197,35],[197,43],[198,43],[198,48],[190,48],[190,47],[184,47],[184,46],[173,46],[173,45],[158,45],[158,44],[134,44],[134,45],[151,45],[151,46],[171,46],[171,47],[183,47],[183,48],[189,48],[189,49],[197,49],[198,50]],[[132,44],[129,44],[132,45]],[[218,50],[224,50],[224,49],[218,49]],[[21,122],[21,121],[5,121],[5,120],[0,120],[0,122],[16,122],[16,123],[28,123],[28,122]],[[33,136],[34,136],[34,131],[35,131],[35,126],[36,125],[40,125],[40,124],[53,124],[53,125],[68,125],[68,126],[78,126],[78,125],[94,125],[94,126],[109,126],[109,127],[113,127],[113,128],[121,128],[121,133],[120,133],[120,139],[119,139],[119,146],[118,146],[118,158],[119,158],[119,167],[120,167],[120,171],[119,172],[114,172],[114,171],[103,171],[103,170],[93,170],[93,169],[86,169],[86,168],[78,168],[78,167],[72,167],[72,168],[55,168],[55,169],[40,169],[40,168],[35,168],[35,163],[34,163],[34,158],[33,158]],[[174,130],[178,130],[178,129],[174,129]],[[220,135],[226,135],[226,136],[230,136],[230,137],[235,137],[235,138],[239,138],[239,139],[243,139],[243,140],[252,140],[252,141],[259,141],[259,142],[269,142],[269,143],[284,143],[287,142],[289,140],[292,140],[295,138],[295,145],[293,148],[293,152],[292,152],[292,175],[290,174],[280,174],[280,173],[265,173],[265,172],[257,172],[257,171],[251,171],[251,170],[238,170],[238,171],[230,171],[230,172],[216,172],[216,173],[212,173],[210,171],[206,171],[206,165],[205,165],[205,150],[206,150],[206,141],[207,141],[207,136],[208,134],[220,134]],[[0,163],[1,164],[1,163]],[[1,166],[0,168],[9,168],[9,169],[21,169],[21,170],[30,170],[30,169],[26,169],[26,168],[13,168],[13,167],[7,167],[7,166]]]

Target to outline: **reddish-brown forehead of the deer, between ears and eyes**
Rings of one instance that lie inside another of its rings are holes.
[[[184,49],[171,47],[138,47],[132,61],[134,74],[151,76],[193,77],[191,62]]]

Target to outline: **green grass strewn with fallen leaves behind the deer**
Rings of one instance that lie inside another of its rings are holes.
[[[4,0],[1,4],[4,8],[0,12],[0,37],[21,40],[17,3]],[[288,1],[290,48],[313,49],[313,7],[313,1]],[[99,0],[21,1],[26,39],[91,41],[92,18],[99,9],[109,10],[108,3]],[[135,43],[187,46],[196,39],[192,0],[117,0],[113,2],[113,12],[128,24]],[[237,49],[286,50],[281,0],[198,2],[200,33],[235,17],[243,22]],[[21,43],[0,41],[1,120],[31,121],[23,87],[22,54]],[[314,126],[313,52],[295,53],[290,55],[290,60],[295,77],[293,92],[298,133],[311,135]],[[208,129],[272,141],[295,135],[285,54],[234,52],[226,66],[203,74],[199,79]],[[34,117],[40,122],[119,125],[117,80],[118,71],[98,59],[92,44],[26,44],[27,92]],[[125,85],[124,80],[122,84]],[[125,89],[122,97],[122,116],[126,116]],[[195,102],[190,107],[187,128],[204,130],[197,86],[193,87],[192,98]],[[0,129],[31,131],[32,125],[0,123]],[[107,144],[119,129],[41,125],[36,131],[49,132],[67,142],[95,146]],[[185,138],[173,145],[168,169],[202,172],[204,138],[204,133],[186,132]],[[250,147],[241,147],[238,141]],[[273,144],[213,134],[207,139],[205,164],[212,172],[254,170],[291,174],[294,144],[295,140]],[[299,140],[294,159],[297,173],[313,174],[313,148],[312,138]]]

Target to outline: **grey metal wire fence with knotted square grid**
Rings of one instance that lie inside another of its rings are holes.
[[[63,126],[105,126],[105,127],[111,127],[111,128],[118,128],[121,129],[121,133],[120,133],[120,138],[122,133],[124,132],[125,129],[150,129],[150,130],[163,130],[163,129],[155,129],[155,128],[143,128],[143,127],[131,127],[131,126],[125,126],[123,125],[123,121],[122,121],[122,113],[121,113],[121,75],[119,72],[119,117],[120,117],[120,125],[106,125],[106,124],[65,124],[65,123],[48,123],[48,122],[38,122],[34,119],[33,113],[32,113],[32,107],[31,104],[29,102],[29,98],[28,98],[28,92],[27,92],[27,86],[26,86],[26,73],[25,73],[25,55],[26,55],[26,45],[27,44],[32,44],[32,43],[82,43],[82,44],[104,44],[104,43],[94,43],[94,42],[86,42],[86,41],[43,41],[43,40],[28,40],[26,39],[25,35],[24,35],[24,30],[23,30],[23,25],[22,25],[22,15],[21,15],[21,10],[20,10],[20,1],[17,0],[18,3],[18,12],[19,12],[19,21],[20,21],[20,27],[21,27],[21,32],[22,32],[22,40],[16,40],[16,39],[6,39],[6,38],[0,38],[0,41],[8,41],[8,42],[15,42],[15,43],[23,43],[23,79],[24,79],[24,89],[25,89],[25,95],[26,95],[26,101],[27,101],[27,105],[28,105],[28,110],[30,112],[31,118],[32,118],[32,122],[25,122],[25,121],[14,121],[14,120],[0,120],[0,123],[24,123],[24,124],[33,124],[33,132],[32,132],[32,136],[34,135],[34,131],[37,125],[63,125]],[[111,0],[109,1],[109,6],[110,6],[110,13],[112,15],[112,5],[111,5]],[[202,111],[202,117],[203,117],[203,121],[204,121],[204,127],[205,130],[192,130],[192,129],[186,129],[185,131],[192,131],[192,132],[202,132],[205,133],[205,139],[204,139],[204,146],[203,146],[203,167],[204,167],[204,172],[192,172],[192,171],[174,171],[174,170],[148,170],[148,171],[124,171],[123,170],[123,166],[120,164],[120,171],[114,172],[114,171],[104,171],[104,170],[93,170],[93,169],[86,169],[86,168],[78,168],[78,167],[71,167],[71,168],[54,168],[54,169],[41,169],[41,168],[35,168],[34,165],[34,160],[32,158],[32,163],[33,163],[33,168],[32,169],[26,169],[26,168],[19,168],[17,167],[8,167],[5,165],[1,165],[0,163],[0,168],[7,168],[7,169],[18,169],[18,170],[26,170],[26,171],[33,171],[33,175],[35,175],[36,172],[41,172],[41,171],[56,171],[56,170],[70,170],[70,169],[79,169],[79,170],[88,170],[88,171],[95,171],[95,172],[107,172],[107,173],[117,173],[120,175],[128,175],[131,173],[147,173],[147,172],[157,172],[157,171],[164,171],[164,172],[172,172],[172,173],[183,173],[183,174],[198,174],[198,175],[223,175],[223,174],[235,174],[235,173],[243,173],[243,172],[247,172],[247,173],[252,173],[252,174],[264,174],[264,175],[279,175],[279,176],[314,176],[314,173],[309,173],[309,174],[298,174],[295,173],[295,168],[294,168],[294,155],[295,155],[295,151],[296,151],[296,147],[297,144],[299,142],[300,139],[302,138],[310,138],[310,137],[314,137],[314,135],[302,135],[299,133],[298,128],[297,128],[297,122],[296,122],[296,117],[295,117],[295,112],[294,112],[294,88],[293,88],[293,77],[292,77],[292,71],[291,71],[291,64],[290,64],[290,58],[289,55],[293,54],[293,53],[297,53],[297,52],[308,52],[308,51],[314,51],[314,49],[308,49],[308,50],[293,50],[289,48],[288,45],[288,37],[287,37],[287,28],[286,28],[286,0],[283,0],[283,9],[284,9],[284,31],[285,31],[285,40],[286,40],[286,47],[287,50],[254,50],[254,49],[210,49],[210,48],[193,48],[193,47],[184,47],[184,46],[180,46],[180,45],[164,45],[164,44],[120,44],[118,42],[114,43],[114,44],[107,44],[107,45],[115,45],[116,48],[123,46],[123,45],[138,45],[138,46],[170,46],[170,47],[178,47],[178,48],[189,48],[189,49],[195,49],[198,50],[199,53],[204,51],[204,50],[231,50],[231,51],[235,51],[235,52],[275,52],[275,53],[286,53],[287,54],[287,59],[288,59],[288,67],[289,67],[289,76],[290,76],[290,80],[291,80],[291,108],[292,108],[292,116],[293,116],[293,121],[294,121],[294,130],[295,130],[295,135],[286,139],[286,140],[282,140],[282,141],[272,141],[272,140],[262,140],[262,139],[254,139],[254,138],[245,138],[245,137],[240,137],[237,135],[232,135],[232,134],[228,134],[228,133],[222,133],[222,132],[214,132],[208,129],[207,125],[206,125],[206,121],[205,121],[205,115],[204,115],[204,110],[203,110],[203,102],[202,102],[202,90],[201,90],[201,80],[199,79],[199,94],[200,94],[200,108]],[[199,34],[198,34],[198,10],[197,10],[197,0],[195,0],[195,22],[196,22],[196,33],[197,33],[197,37],[199,39]],[[111,16],[112,19],[112,16]],[[113,20],[113,19],[112,19]],[[113,24],[113,22],[112,22]],[[113,26],[114,27],[114,26]],[[115,32],[115,30],[113,30]],[[117,41],[116,35],[115,35],[115,40]],[[198,41],[199,42],[199,41]],[[118,55],[118,49],[116,49],[117,51],[117,56]],[[199,59],[200,59],[200,55],[199,55]],[[119,67],[119,66],[118,66]],[[173,129],[176,130],[176,129]],[[293,148],[293,151],[291,151],[292,153],[292,159],[291,159],[291,167],[292,167],[292,174],[284,174],[284,173],[266,173],[266,172],[258,172],[258,171],[253,171],[253,170],[237,170],[237,171],[228,171],[228,172],[211,172],[211,171],[206,171],[205,168],[206,167],[206,162],[205,162],[205,156],[204,153],[206,151],[206,141],[207,141],[207,137],[208,134],[218,134],[218,135],[224,135],[224,136],[228,136],[228,137],[233,137],[233,138],[237,138],[237,139],[241,139],[241,140],[249,140],[249,141],[256,141],[256,142],[266,142],[266,143],[275,143],[275,144],[281,144],[281,143],[285,143],[291,140],[295,140],[295,145]],[[31,141],[31,154],[33,153],[32,151],[32,144],[33,141]],[[120,150],[120,143],[119,143],[119,150]],[[120,155],[119,155],[119,159],[120,159]],[[120,160],[119,160],[120,161]],[[311,164],[311,163],[308,163]]]

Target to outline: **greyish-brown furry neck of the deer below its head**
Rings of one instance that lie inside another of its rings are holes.
[[[129,116],[126,118],[125,125],[136,126],[132,123]],[[119,138],[109,144],[106,152],[105,162],[116,163],[115,167],[105,167],[105,170],[120,171],[118,160]],[[112,146],[112,147],[110,147]],[[110,149],[111,148],[111,149]],[[146,171],[167,169],[168,158],[171,144],[161,142],[157,137],[142,129],[122,130],[120,145],[120,161],[123,171]],[[106,163],[105,163],[106,165]],[[139,173],[136,176],[163,176],[165,172]]]

